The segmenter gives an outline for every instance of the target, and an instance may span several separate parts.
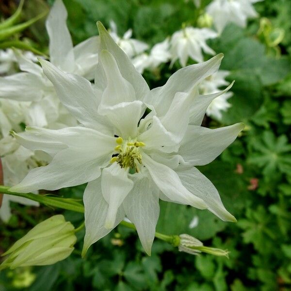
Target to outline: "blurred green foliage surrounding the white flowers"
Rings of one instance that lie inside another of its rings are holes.
[[[205,1],[210,2],[210,1]],[[29,19],[52,5],[53,0],[27,0]],[[190,0],[64,0],[74,44],[97,34],[96,21],[117,24],[119,35],[129,28],[133,37],[150,46],[194,24],[196,11]],[[13,1],[3,0],[3,17],[14,11]],[[226,151],[207,166],[199,167],[216,186],[222,200],[238,220],[225,223],[207,210],[161,202],[157,231],[188,233],[205,245],[228,249],[229,259],[211,255],[194,257],[171,245],[155,241],[152,256],[143,252],[133,230],[118,226],[95,243],[81,259],[84,233],[78,233],[74,253],[56,265],[22,268],[0,273],[0,291],[29,290],[175,290],[175,291],[288,291],[291,290],[291,1],[264,0],[255,5],[260,16],[246,29],[228,25],[221,37],[209,41],[225,58],[221,69],[235,80],[229,99],[232,107],[222,121],[206,118],[203,125],[216,128],[244,122],[246,129]],[[261,17],[270,20],[269,34],[258,34]],[[270,38],[284,30],[275,48]],[[47,50],[44,22],[24,33]],[[164,64],[144,76],[150,88],[165,83],[179,68]],[[82,197],[85,185],[60,190],[64,197]],[[64,213],[78,226],[82,214],[13,205],[8,225],[0,223],[0,253],[37,222]],[[190,228],[194,217],[198,225]]]

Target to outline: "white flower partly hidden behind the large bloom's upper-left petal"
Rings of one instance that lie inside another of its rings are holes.
[[[62,0],[56,0],[46,22],[50,61],[65,72],[92,80],[98,63],[98,37],[91,37],[73,48],[66,18],[67,12]],[[0,97],[30,102],[26,111],[27,125],[49,128],[75,125],[76,120],[70,117],[60,103],[42,68],[19,51],[16,51],[16,58],[22,72],[0,77]]]

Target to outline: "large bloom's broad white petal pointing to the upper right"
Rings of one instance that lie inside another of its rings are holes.
[[[175,94],[177,92],[189,93],[192,91],[197,83],[218,70],[222,58],[223,54],[218,54],[207,62],[179,69],[169,78],[165,85],[151,90],[144,102],[153,105],[158,116],[165,115]]]

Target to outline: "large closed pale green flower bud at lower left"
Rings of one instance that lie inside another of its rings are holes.
[[[8,258],[0,270],[54,264],[72,253],[76,241],[74,226],[63,215],[52,216],[34,226],[2,255]]]

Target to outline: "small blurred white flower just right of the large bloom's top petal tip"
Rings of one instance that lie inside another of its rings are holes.
[[[140,40],[131,38],[132,30],[129,29],[124,33],[122,37],[117,34],[117,26],[113,20],[110,21],[111,32],[110,35],[117,45],[128,55],[129,58],[133,58],[136,55],[144,52],[148,49],[148,45]]]

